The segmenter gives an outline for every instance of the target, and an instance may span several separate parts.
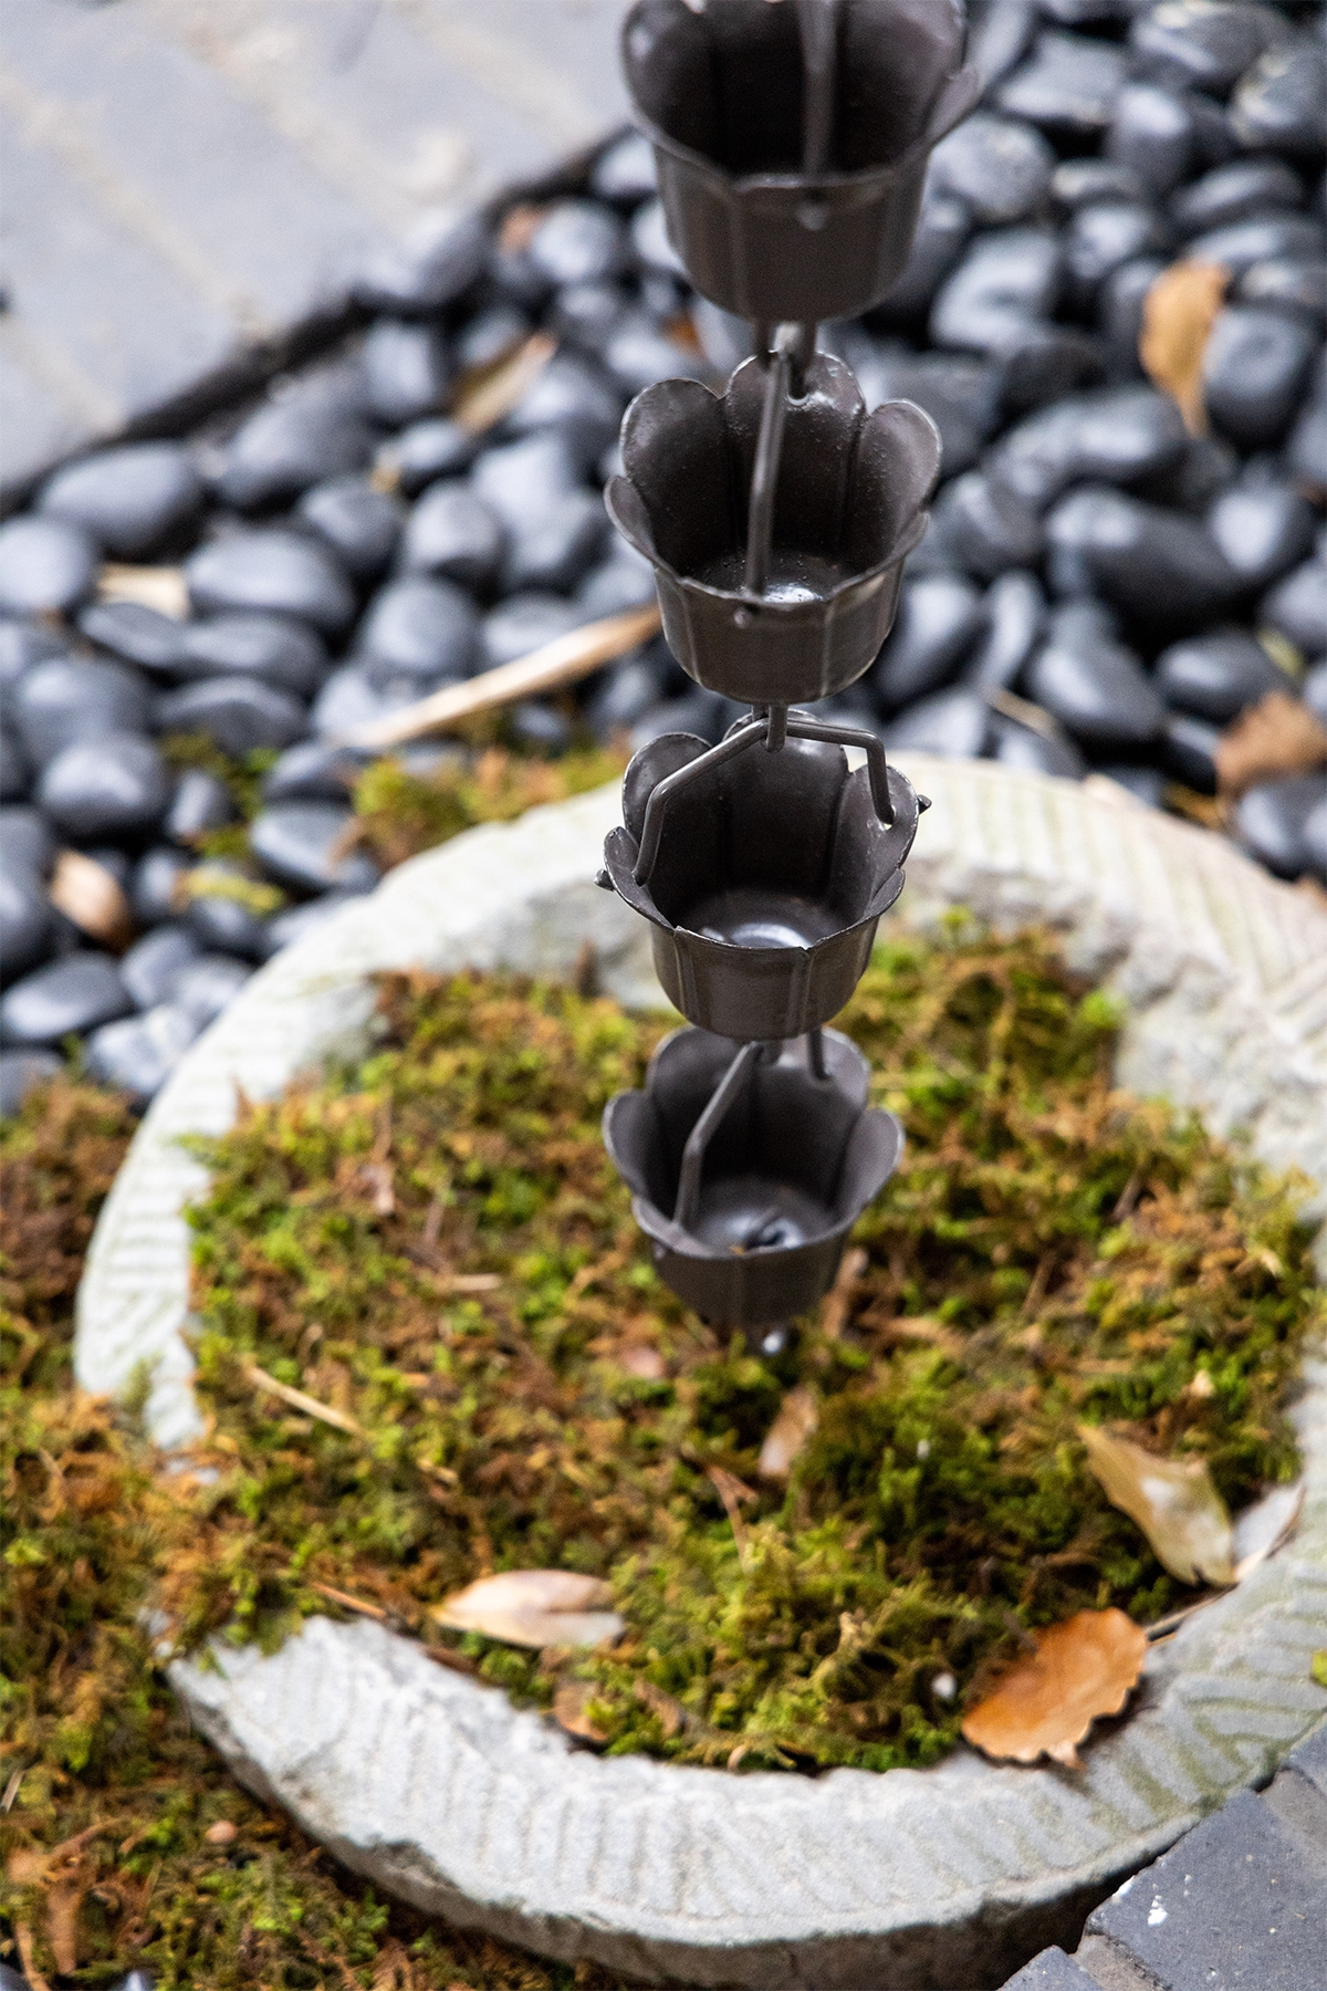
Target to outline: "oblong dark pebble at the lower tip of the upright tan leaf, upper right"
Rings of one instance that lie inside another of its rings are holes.
[[[1170,394],[1114,386],[1054,402],[1019,422],[989,458],[991,476],[1031,506],[1046,506],[1070,484],[1136,484],[1176,464],[1188,430]]]

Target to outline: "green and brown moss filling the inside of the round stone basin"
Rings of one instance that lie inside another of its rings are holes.
[[[661,1286],[603,1153],[657,1023],[468,976],[392,978],[382,1013],[358,1069],[197,1143],[219,1479],[207,1555],[167,1581],[185,1641],[279,1639],[322,1585],[519,1700],[579,1678],[617,1752],[925,1764],[1023,1627],[1184,1603],[1080,1422],[1206,1457],[1232,1507],[1293,1473],[1293,1189],[1114,1093],[1114,1011],[1037,936],[877,952],[840,1021],[907,1161],[859,1224],[844,1332],[806,1322],[778,1370]],[[255,1360],[362,1436],[255,1392]],[[760,1483],[792,1384],[818,1430]],[[716,1469],[752,1489],[740,1539]],[[613,1583],[611,1653],[551,1670],[438,1631],[448,1591],[547,1565]]]

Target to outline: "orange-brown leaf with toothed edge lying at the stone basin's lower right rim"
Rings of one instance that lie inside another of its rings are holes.
[[[1124,1611],[1078,1611],[1037,1633],[1021,1659],[963,1720],[963,1738],[1001,1762],[1050,1756],[1078,1770],[1100,1714],[1118,1714],[1142,1672],[1148,1635]]]

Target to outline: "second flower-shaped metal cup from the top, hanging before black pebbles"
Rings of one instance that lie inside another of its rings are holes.
[[[748,498],[766,372],[746,360],[712,394],[661,380],[623,422],[625,476],[607,504],[655,567],[672,655],[728,699],[796,705],[844,691],[889,635],[903,559],[925,532],[939,432],[909,400],[865,412],[830,352],[788,402],[770,577],[744,591]]]

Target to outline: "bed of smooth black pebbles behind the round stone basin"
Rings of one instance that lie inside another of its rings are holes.
[[[1321,16],[991,0],[971,58],[985,96],[935,151],[907,271],[822,329],[869,404],[915,400],[943,438],[895,629],[826,705],[889,749],[1212,794],[1222,729],[1267,691],[1327,723]],[[1202,438],[1138,364],[1144,295],[1186,257],[1232,273]],[[2,1111],[72,1037],[147,1101],[257,964],[372,890],[338,741],[653,599],[601,502],[621,414],[748,350],[688,291],[635,135],[575,195],[384,249],[358,299],[366,329],[229,432],[101,450],[0,528]],[[553,356],[495,426],[444,412],[535,331]],[[105,599],[105,561],[183,563],[187,619]],[[734,717],[655,639],[505,723],[559,755]],[[163,755],[179,735],[271,761],[247,860],[199,856],[235,800]],[[1321,774],[1257,782],[1232,826],[1327,882]],[[123,888],[127,952],[52,906],[64,850]]]

